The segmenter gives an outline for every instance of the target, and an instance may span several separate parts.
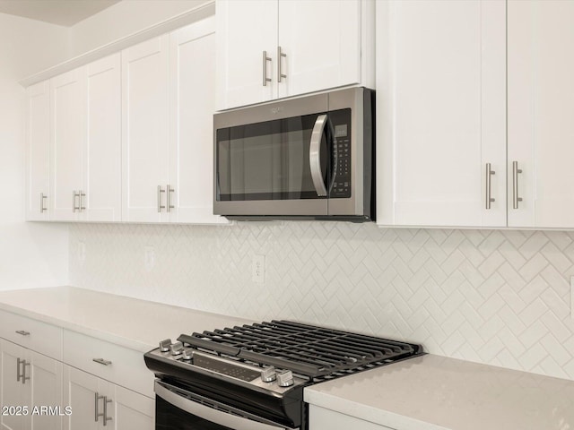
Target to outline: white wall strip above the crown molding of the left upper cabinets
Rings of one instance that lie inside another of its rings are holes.
[[[122,0],[70,29],[70,56],[149,29],[204,3],[205,0]]]

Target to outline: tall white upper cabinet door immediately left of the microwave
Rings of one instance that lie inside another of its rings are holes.
[[[213,215],[215,22],[170,34],[170,221],[225,223]]]

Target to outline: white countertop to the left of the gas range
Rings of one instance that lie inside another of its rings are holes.
[[[176,340],[183,332],[253,323],[73,287],[0,291],[0,309],[142,352],[156,348],[160,340]]]

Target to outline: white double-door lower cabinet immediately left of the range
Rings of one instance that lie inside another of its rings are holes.
[[[72,409],[65,430],[154,428],[155,405],[149,397],[72,366],[65,366],[64,387],[64,404]]]

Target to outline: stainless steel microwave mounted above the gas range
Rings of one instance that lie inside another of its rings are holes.
[[[213,213],[373,220],[373,120],[362,87],[215,114]]]

